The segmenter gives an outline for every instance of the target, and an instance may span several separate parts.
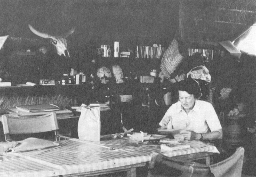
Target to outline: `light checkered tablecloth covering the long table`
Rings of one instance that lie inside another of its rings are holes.
[[[1,177],[57,176],[111,169],[148,162],[158,144],[144,144],[127,138],[102,136],[100,142],[69,139],[57,147],[0,154]],[[189,141],[190,148],[165,152],[168,156],[197,152],[218,152],[216,147]]]

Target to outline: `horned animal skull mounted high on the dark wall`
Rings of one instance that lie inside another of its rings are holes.
[[[42,33],[34,29],[30,24],[28,25],[29,29],[37,36],[42,38],[51,39],[51,43],[56,47],[58,55],[64,55],[69,57],[69,52],[67,48],[67,37],[74,33],[75,28],[73,27],[69,32],[65,33],[64,35],[60,36],[51,36],[47,33]]]

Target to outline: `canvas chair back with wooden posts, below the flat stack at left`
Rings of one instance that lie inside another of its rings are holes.
[[[54,131],[57,140],[58,122],[56,113],[49,113],[38,117],[11,117],[2,115],[3,131],[5,140],[7,134],[28,134]]]

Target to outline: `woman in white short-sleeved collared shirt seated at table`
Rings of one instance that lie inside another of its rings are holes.
[[[222,138],[222,127],[213,106],[202,100],[196,80],[178,83],[179,101],[173,104],[159,123],[161,129],[182,129],[186,140]]]

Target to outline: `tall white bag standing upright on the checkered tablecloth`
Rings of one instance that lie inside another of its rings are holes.
[[[82,107],[77,133],[82,140],[100,140],[100,107]]]

